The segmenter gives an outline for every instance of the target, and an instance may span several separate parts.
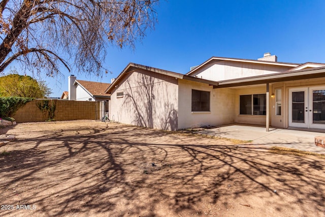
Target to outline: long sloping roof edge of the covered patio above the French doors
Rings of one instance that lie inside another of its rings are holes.
[[[302,80],[325,77],[325,67],[308,68],[296,71],[286,71],[268,75],[258,75],[245,78],[218,81],[216,88],[244,86],[252,84],[274,83],[281,81]]]

